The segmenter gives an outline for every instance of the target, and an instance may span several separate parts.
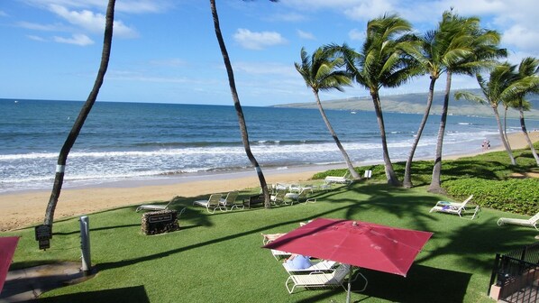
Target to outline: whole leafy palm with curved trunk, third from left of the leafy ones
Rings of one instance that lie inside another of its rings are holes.
[[[447,24],[440,22],[434,31],[425,32],[423,35],[417,37],[418,47],[407,49],[407,53],[415,58],[419,67],[424,69],[425,73],[429,75],[430,84],[426,98],[425,113],[417,129],[410,152],[408,153],[403,180],[403,186],[405,188],[411,188],[413,186],[412,161],[414,160],[417,145],[425,130],[425,124],[433,105],[436,80],[443,75],[447,70],[447,66],[451,64],[455,57],[460,56],[462,52],[466,51],[462,48],[459,40],[453,39],[455,32],[457,32],[456,25],[455,23]]]

